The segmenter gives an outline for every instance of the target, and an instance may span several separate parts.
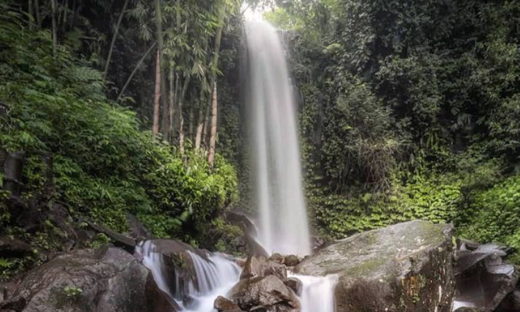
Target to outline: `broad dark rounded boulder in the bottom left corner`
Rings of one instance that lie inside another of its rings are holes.
[[[148,269],[120,248],[74,250],[29,271],[0,304],[0,310],[176,311],[156,306],[161,294],[145,287],[150,275]],[[152,300],[150,293],[155,294]]]

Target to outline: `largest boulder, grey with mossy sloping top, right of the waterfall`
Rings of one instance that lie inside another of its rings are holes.
[[[451,225],[415,220],[356,234],[308,257],[303,275],[338,275],[336,312],[450,312]]]

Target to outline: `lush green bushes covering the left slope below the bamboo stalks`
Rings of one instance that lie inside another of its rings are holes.
[[[0,32],[0,101],[10,107],[0,146],[24,150],[24,196],[44,192],[53,156],[53,200],[74,218],[118,231],[136,214],[156,236],[205,239],[205,226],[236,198],[236,173],[221,157],[177,150],[141,131],[135,113],[105,98],[100,73],[64,46],[53,55],[47,31],[15,22]],[[1,211],[1,210],[0,210]],[[2,226],[10,216],[1,212]]]

